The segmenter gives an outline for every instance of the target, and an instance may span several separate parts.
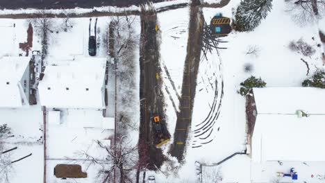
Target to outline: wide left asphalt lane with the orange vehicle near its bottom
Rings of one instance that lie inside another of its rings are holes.
[[[160,78],[159,30],[156,29],[156,12],[142,11],[140,19],[140,141],[145,141],[147,145],[149,157],[147,168],[156,169],[165,161],[162,150],[156,148],[156,134],[151,125],[154,115],[159,115],[160,123],[165,125],[164,96],[161,89],[163,82]],[[170,137],[169,132],[166,135]],[[140,149],[139,153],[142,156],[145,152]]]

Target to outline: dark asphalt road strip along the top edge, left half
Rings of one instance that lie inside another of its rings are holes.
[[[151,0],[154,3],[165,0]],[[18,8],[94,8],[99,6],[138,6],[147,0],[0,0],[1,9],[18,9]]]

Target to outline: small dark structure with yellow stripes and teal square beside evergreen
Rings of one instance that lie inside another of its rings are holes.
[[[221,13],[217,13],[210,21],[211,35],[216,37],[226,36],[231,33],[231,19],[223,17]]]

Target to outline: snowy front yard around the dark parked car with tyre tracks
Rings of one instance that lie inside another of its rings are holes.
[[[65,19],[55,19],[60,24]],[[96,17],[92,17],[90,26],[90,35],[94,35],[94,25]],[[110,17],[97,18],[97,56],[106,57],[108,24]],[[49,58],[73,58],[74,56],[88,55],[88,38],[89,38],[90,18],[71,18],[68,21],[69,28],[67,32],[49,34]]]

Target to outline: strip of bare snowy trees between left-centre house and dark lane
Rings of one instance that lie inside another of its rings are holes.
[[[139,35],[133,28],[135,16],[125,14],[124,17],[113,17],[110,22],[110,55],[115,58],[117,77],[117,120],[119,133],[123,130],[138,130],[134,124],[134,107],[138,106],[135,97],[138,96],[137,77],[138,61],[135,60],[135,49]],[[128,87],[126,87],[128,86]],[[138,120],[138,119],[137,119]]]

